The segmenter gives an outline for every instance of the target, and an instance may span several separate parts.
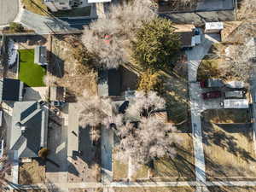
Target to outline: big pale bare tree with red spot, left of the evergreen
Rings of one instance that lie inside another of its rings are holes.
[[[151,6],[150,0],[113,6],[106,18],[100,18],[84,29],[82,41],[91,53],[98,56],[97,67],[115,68],[129,61],[134,31],[143,20],[155,16]]]

